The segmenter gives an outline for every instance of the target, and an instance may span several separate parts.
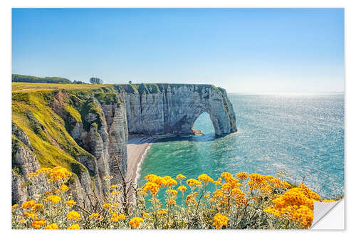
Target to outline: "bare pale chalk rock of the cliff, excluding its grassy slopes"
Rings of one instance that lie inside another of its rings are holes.
[[[237,130],[234,109],[226,90],[214,85],[109,85],[100,90],[104,93],[58,90],[53,93],[48,106],[66,122],[64,132],[73,137],[78,147],[75,152],[65,152],[71,154],[79,165],[70,185],[78,190],[73,197],[80,203],[89,205],[90,196],[105,196],[110,184],[120,181],[117,163],[126,174],[129,135],[193,135],[192,127],[202,112],[209,113],[217,136]],[[73,107],[69,112],[66,110],[68,105]],[[73,110],[78,112],[77,117]],[[39,121],[36,123],[48,134],[46,126]],[[12,199],[13,203],[21,203],[36,199],[37,188],[25,185],[26,175],[39,169],[40,164],[26,132],[16,124],[12,128]],[[51,139],[56,140],[56,137]],[[68,147],[61,146],[58,140],[56,146]],[[108,176],[113,177],[109,182]],[[41,185],[44,183],[40,181]]]

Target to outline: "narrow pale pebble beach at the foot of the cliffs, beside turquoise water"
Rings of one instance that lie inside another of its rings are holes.
[[[132,184],[137,184],[140,165],[145,158],[145,154],[155,142],[153,137],[130,137],[127,140],[127,174],[126,179],[131,180]]]

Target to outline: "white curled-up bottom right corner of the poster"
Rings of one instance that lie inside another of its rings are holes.
[[[345,229],[345,199],[334,202],[314,201],[314,218],[310,229]]]

